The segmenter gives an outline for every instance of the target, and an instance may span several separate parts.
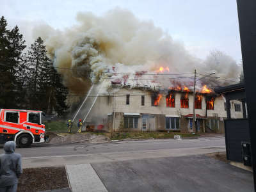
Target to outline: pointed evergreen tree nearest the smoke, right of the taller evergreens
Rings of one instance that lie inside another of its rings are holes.
[[[28,51],[29,100],[31,108],[48,114],[54,112],[63,115],[67,110],[65,100],[67,88],[61,83],[61,77],[47,57],[44,41],[38,37]]]

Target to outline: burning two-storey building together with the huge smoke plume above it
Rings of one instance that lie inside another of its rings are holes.
[[[81,103],[74,120],[105,129],[195,131],[191,72],[197,68],[229,79],[241,72],[230,56],[218,52],[204,61],[195,58],[152,22],[118,8],[102,16],[78,13],[76,26],[67,30],[42,26],[35,31],[68,88],[70,111]],[[220,132],[224,100],[205,84],[214,88],[219,83],[196,82],[196,129]]]

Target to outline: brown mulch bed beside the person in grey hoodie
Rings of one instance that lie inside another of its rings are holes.
[[[68,188],[64,166],[24,169],[19,179],[18,192],[36,192]]]

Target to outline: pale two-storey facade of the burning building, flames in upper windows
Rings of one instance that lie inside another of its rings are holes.
[[[162,92],[122,88],[98,97],[86,124],[103,124],[115,131],[179,131],[224,133],[225,98],[196,95],[193,129],[193,93]],[[232,101],[233,118],[243,117],[241,102]]]

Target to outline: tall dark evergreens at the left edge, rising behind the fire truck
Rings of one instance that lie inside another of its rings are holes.
[[[25,41],[15,26],[8,30],[6,19],[0,19],[0,108],[17,108],[17,68],[22,61]]]

